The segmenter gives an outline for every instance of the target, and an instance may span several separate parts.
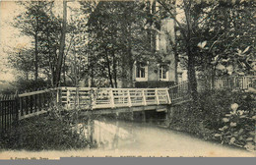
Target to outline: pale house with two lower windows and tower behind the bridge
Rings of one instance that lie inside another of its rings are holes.
[[[133,81],[136,87],[160,87],[176,82],[175,58],[171,44],[175,42],[174,22],[166,18],[160,22],[156,36],[156,51],[164,54],[159,61],[135,62]]]

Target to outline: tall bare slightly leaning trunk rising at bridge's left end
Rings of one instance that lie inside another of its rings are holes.
[[[67,1],[63,1],[63,23],[62,23],[62,29],[61,29],[59,56],[58,56],[57,67],[56,67],[55,86],[60,85],[61,68],[62,68],[62,62],[63,62],[63,56],[64,56],[64,48],[65,48],[66,25],[67,25]]]

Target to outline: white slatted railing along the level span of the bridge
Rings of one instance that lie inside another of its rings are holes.
[[[169,104],[167,88],[60,87],[59,102],[66,109],[115,108]]]

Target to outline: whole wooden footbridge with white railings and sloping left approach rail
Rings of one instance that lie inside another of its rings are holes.
[[[62,110],[109,114],[145,110],[166,110],[187,89],[179,84],[179,94],[169,88],[58,87],[19,94],[19,119],[45,113],[53,105]],[[180,88],[183,87],[184,92]],[[181,94],[182,93],[182,94]]]

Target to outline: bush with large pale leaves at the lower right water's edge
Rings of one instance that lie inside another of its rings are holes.
[[[222,143],[228,143],[247,150],[255,149],[255,108],[242,110],[237,103],[230,105],[230,112],[223,118],[224,126],[219,129],[220,133],[216,138],[220,138]]]

